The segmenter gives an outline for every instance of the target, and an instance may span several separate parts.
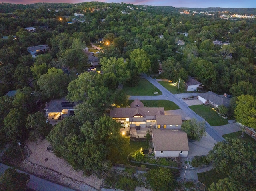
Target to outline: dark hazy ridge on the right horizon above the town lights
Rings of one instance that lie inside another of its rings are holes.
[[[188,8],[182,7],[182,9],[190,11],[210,12],[210,11],[228,11],[234,14],[256,14],[256,8],[221,8],[221,7],[208,7],[208,8]]]

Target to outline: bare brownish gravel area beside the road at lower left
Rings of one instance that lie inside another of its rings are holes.
[[[26,142],[26,145],[31,154],[21,164],[24,171],[32,172],[39,177],[46,177],[54,182],[57,181],[76,190],[95,191],[100,189],[103,179],[98,179],[93,175],[86,177],[83,175],[83,171],[75,171],[64,159],[56,157],[46,149],[49,146],[47,140],[38,141],[37,145],[36,142]]]

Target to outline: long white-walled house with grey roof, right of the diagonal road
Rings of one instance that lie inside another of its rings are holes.
[[[206,93],[198,94],[198,99],[204,104],[211,104],[214,107],[218,107],[220,105],[228,107],[231,96],[226,93],[223,95],[218,95],[216,93],[213,93],[212,91],[208,91]]]

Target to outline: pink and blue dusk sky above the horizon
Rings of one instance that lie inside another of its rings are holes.
[[[90,0],[89,0],[90,1]],[[156,6],[173,6],[173,7],[225,7],[225,8],[256,8],[256,0],[93,0],[106,3],[131,3],[135,5],[156,5]],[[32,4],[38,2],[48,3],[80,3],[85,0],[2,0],[1,2],[15,4]]]

